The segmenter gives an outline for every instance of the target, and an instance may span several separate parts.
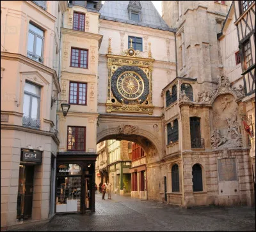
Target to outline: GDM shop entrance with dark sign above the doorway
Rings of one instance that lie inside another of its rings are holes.
[[[35,165],[42,164],[42,152],[21,149],[19,185],[17,194],[17,221],[31,219],[33,210],[33,186]]]

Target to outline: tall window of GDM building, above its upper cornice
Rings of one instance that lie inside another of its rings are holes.
[[[29,23],[28,32],[28,52],[27,55],[31,59],[43,62],[43,47],[44,47],[44,31]]]

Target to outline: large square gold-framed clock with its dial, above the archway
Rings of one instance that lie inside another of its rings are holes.
[[[152,62],[132,48],[124,55],[107,54],[107,112],[148,113],[152,115]]]

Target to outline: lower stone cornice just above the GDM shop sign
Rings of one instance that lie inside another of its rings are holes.
[[[28,128],[28,127],[23,127],[23,126],[18,126],[18,125],[8,125],[8,124],[1,124],[1,130],[2,129],[23,131],[23,132],[33,133],[33,134],[42,134],[45,136],[51,136],[57,145],[60,144],[60,140],[58,139],[56,134],[49,132],[49,131],[42,131],[42,130],[38,130],[38,129],[32,129],[32,128]]]

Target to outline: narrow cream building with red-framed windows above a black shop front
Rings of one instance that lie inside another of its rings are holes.
[[[60,145],[57,155],[56,212],[95,210],[99,1],[70,1],[61,27]],[[74,168],[76,171],[72,171]]]

